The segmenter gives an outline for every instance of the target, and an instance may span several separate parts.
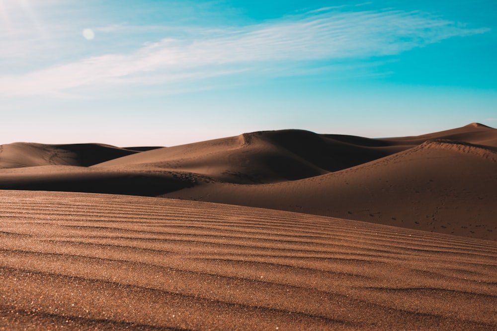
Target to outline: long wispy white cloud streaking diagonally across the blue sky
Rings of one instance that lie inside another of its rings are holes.
[[[122,26],[100,28],[113,32]],[[161,84],[239,72],[247,67],[395,55],[454,36],[485,33],[421,12],[342,12],[324,8],[264,24],[196,29],[128,54],[105,54],[24,73],[0,75],[1,95],[54,95],[79,87]]]

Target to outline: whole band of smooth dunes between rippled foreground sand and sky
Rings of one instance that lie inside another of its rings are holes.
[[[383,139],[284,130],[135,150],[3,146],[0,164],[23,168],[0,169],[0,189],[204,200],[497,240],[497,130],[475,123]]]

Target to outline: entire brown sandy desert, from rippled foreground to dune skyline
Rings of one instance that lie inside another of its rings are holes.
[[[0,330],[493,330],[497,130],[0,152]]]

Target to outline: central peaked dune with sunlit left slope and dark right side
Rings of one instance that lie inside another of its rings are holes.
[[[167,169],[237,184],[313,177],[390,155],[390,142],[302,130],[244,133],[113,159],[95,168]]]

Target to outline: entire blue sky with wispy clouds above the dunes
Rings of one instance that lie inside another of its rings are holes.
[[[495,0],[0,0],[0,143],[497,127]]]

